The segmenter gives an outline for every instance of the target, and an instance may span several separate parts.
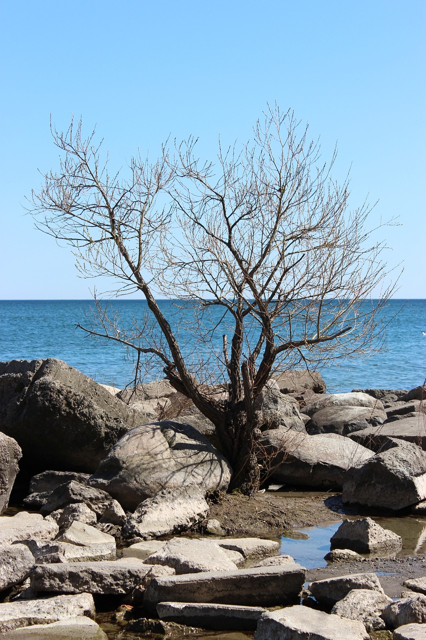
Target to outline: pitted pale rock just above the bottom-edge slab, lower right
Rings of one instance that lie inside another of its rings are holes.
[[[383,609],[391,604],[391,598],[371,589],[353,589],[336,602],[331,613],[342,618],[361,621],[368,631],[384,629],[381,618]]]

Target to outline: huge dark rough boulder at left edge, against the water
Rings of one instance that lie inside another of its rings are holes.
[[[145,416],[61,360],[0,363],[0,430],[26,467],[93,472]]]

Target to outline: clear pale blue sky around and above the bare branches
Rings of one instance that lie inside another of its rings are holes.
[[[1,0],[0,298],[90,298],[68,248],[25,196],[57,166],[49,118],[97,124],[114,163],[169,134],[247,141],[267,102],[338,144],[352,202],[404,262],[398,298],[425,298],[425,0]],[[102,284],[99,285],[102,290]]]

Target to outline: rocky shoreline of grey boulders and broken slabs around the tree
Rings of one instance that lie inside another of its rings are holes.
[[[278,376],[258,406],[268,482],[422,517],[424,394],[326,394],[315,372]],[[340,515],[325,497],[226,494],[217,444],[167,381],[120,391],[59,360],[0,363],[1,634],[101,639],[93,618],[111,607],[129,638],[425,637],[424,556],[395,557],[398,536],[361,517],[343,521],[327,567],[306,571],[271,538]],[[19,468],[32,477],[14,513]]]

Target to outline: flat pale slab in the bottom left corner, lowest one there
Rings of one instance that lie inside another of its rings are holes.
[[[106,633],[86,616],[13,629],[6,631],[1,637],[2,640],[107,640]]]

